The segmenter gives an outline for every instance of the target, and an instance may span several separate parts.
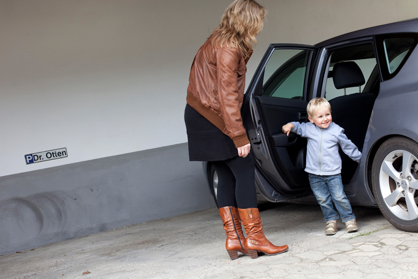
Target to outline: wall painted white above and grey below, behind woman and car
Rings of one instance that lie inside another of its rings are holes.
[[[214,206],[183,111],[194,55],[231,2],[0,0],[0,254]],[[315,44],[418,10],[259,2],[269,14],[247,84],[269,43]],[[26,164],[59,148],[68,156]]]

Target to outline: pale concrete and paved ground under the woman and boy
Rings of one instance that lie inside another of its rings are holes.
[[[346,233],[339,220],[334,236],[325,236],[318,205],[259,208],[265,235],[289,245],[286,253],[230,260],[211,208],[0,256],[0,279],[418,277],[418,234],[395,229],[376,208],[354,207],[359,231]]]

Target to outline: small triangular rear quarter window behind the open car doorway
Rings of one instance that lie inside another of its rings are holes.
[[[394,77],[417,45],[417,33],[376,35],[376,49],[384,80]]]

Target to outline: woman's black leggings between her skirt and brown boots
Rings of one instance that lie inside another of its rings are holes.
[[[257,208],[254,162],[250,155],[224,161],[212,161],[218,174],[218,206]]]

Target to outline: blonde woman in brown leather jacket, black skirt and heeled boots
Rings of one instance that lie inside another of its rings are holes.
[[[193,61],[184,113],[189,158],[210,161],[218,174],[217,200],[231,259],[238,251],[257,258],[282,253],[264,236],[254,185],[250,141],[242,124],[246,63],[267,10],[254,0],[235,0]],[[241,229],[244,225],[247,239]]]

